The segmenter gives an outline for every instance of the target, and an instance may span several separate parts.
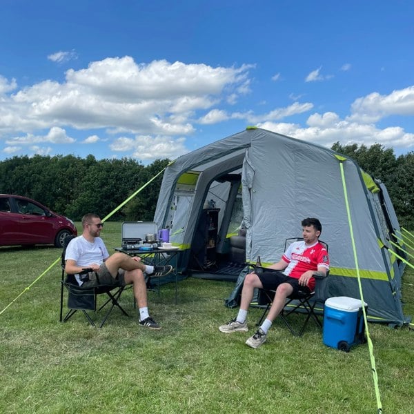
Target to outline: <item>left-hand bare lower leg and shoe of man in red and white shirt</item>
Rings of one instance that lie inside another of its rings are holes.
[[[242,300],[240,302],[239,313],[235,319],[232,319],[227,324],[219,326],[219,331],[223,333],[232,333],[237,331],[247,332],[248,327],[246,323],[246,316],[250,302],[252,302],[255,288],[262,288],[262,282],[255,273],[249,273],[244,278],[242,289]]]

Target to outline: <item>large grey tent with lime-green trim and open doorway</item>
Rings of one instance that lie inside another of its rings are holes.
[[[276,262],[285,239],[301,235],[300,221],[318,217],[331,257],[331,295],[359,298],[360,280],[368,320],[408,322],[401,304],[404,264],[390,253],[402,243],[394,237],[400,227],[391,199],[384,184],[353,159],[247,128],[172,161],[164,172],[155,221],[159,228],[168,226],[170,241],[184,250],[184,269],[192,266],[197,226],[208,202],[219,211],[214,248],[223,259],[230,236],[244,226],[246,262],[257,256],[265,264]]]

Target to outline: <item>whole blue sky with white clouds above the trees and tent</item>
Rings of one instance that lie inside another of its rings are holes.
[[[414,150],[412,0],[1,0],[0,160],[146,165],[257,126]]]

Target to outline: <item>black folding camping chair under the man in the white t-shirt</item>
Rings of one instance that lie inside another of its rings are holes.
[[[119,304],[119,298],[121,297],[122,292],[124,292],[126,286],[113,286],[113,285],[100,285],[94,288],[81,288],[77,284],[75,279],[75,275],[66,275],[65,274],[65,253],[66,248],[75,236],[69,235],[66,237],[63,243],[63,251],[61,254],[61,298],[60,298],[60,322],[66,322],[70,317],[75,315],[77,311],[82,311],[83,315],[85,315],[86,319],[92,326],[96,326],[95,322],[92,320],[88,312],[86,311],[101,311],[108,305],[108,311],[106,312],[105,316],[101,320],[99,324],[99,328],[102,328],[103,324],[105,324],[106,319],[108,319],[112,309],[117,306],[124,315],[129,316],[124,308]],[[92,269],[84,269],[83,273],[88,273],[92,271]],[[66,313],[65,317],[63,317],[63,290],[66,288],[68,290],[68,308],[69,311]],[[115,290],[115,293],[112,293],[112,290]],[[97,295],[106,294],[108,296],[108,300],[99,307],[97,310]]]

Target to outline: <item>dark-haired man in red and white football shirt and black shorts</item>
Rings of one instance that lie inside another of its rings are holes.
[[[265,269],[263,273],[246,275],[239,313],[235,319],[219,326],[219,331],[224,333],[247,332],[247,311],[255,288],[276,290],[275,299],[262,326],[246,341],[248,346],[257,348],[266,342],[268,329],[284,308],[286,297],[297,294],[299,290],[313,292],[315,288],[313,273],[318,271],[326,275],[329,270],[329,257],[325,246],[319,242],[322,232],[320,221],[315,218],[304,219],[302,228],[303,241],[290,244],[282,259],[268,267],[268,269],[278,271],[266,271]]]

